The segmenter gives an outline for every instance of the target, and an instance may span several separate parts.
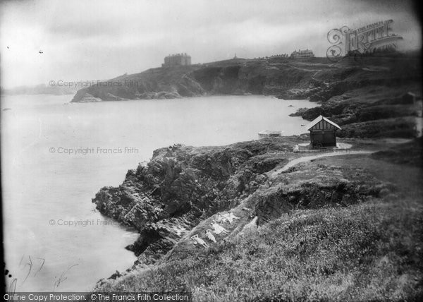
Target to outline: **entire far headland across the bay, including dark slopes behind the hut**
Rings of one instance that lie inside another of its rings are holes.
[[[294,115],[309,121],[320,114],[329,117],[343,128],[340,136],[410,138],[417,107],[404,102],[403,95],[422,97],[419,61],[410,54],[346,57],[336,63],[326,58],[233,59],[152,68],[79,90],[72,102],[245,94],[308,98],[321,106]]]

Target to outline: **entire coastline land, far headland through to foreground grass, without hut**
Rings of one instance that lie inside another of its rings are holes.
[[[404,97],[421,98],[419,58],[325,60],[155,68],[118,78],[139,80],[142,89],[97,86],[75,95],[73,102],[309,98],[321,106],[295,115],[328,116],[342,127],[338,140],[353,145],[289,169],[283,167],[303,156],[293,147],[308,135],[155,150],[121,186],[92,199],[104,215],[140,233],[127,247],[137,255],[133,267],[102,279],[96,291],[190,291],[196,301],[423,296],[422,140],[413,138],[421,109]],[[209,237],[216,222],[224,231]]]

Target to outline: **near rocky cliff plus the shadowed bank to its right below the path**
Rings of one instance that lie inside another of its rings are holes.
[[[293,145],[307,140],[285,137],[223,147],[162,148],[154,151],[151,162],[128,171],[121,186],[102,188],[92,202],[100,212],[140,232],[128,249],[138,263],[151,264],[166,254],[186,253],[190,236],[203,236],[217,213],[231,210],[238,217],[226,227],[228,236],[235,236],[253,217],[262,224],[290,210],[348,205],[377,196],[384,188],[364,171],[349,179],[336,168],[268,173],[298,157],[291,151]]]

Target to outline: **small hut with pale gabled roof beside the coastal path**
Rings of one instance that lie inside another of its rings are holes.
[[[333,121],[319,116],[307,125],[312,147],[336,147],[336,131],[341,130]]]

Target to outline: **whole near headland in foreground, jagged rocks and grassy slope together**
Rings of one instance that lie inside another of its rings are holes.
[[[138,261],[98,291],[192,291],[195,301],[369,301],[423,294],[421,141],[355,140],[340,155],[275,173],[298,136],[163,148],[93,202],[132,224]],[[396,143],[392,141],[391,143]],[[398,142],[397,142],[398,143]],[[416,152],[400,150],[412,144]],[[399,165],[405,157],[410,165]],[[417,167],[415,166],[417,164]],[[218,213],[239,217],[207,241]],[[194,234],[208,247],[195,245]]]

